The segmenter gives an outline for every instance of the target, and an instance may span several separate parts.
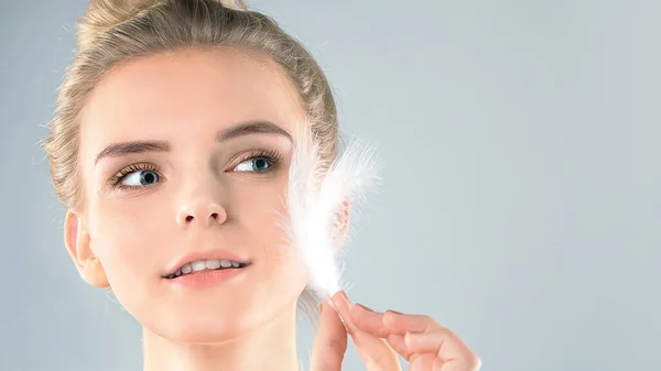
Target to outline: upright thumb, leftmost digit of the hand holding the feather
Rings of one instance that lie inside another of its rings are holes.
[[[347,330],[326,302],[322,302],[321,321],[312,345],[311,371],[340,371],[347,350]]]

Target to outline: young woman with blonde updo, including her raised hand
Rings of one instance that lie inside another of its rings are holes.
[[[312,296],[272,210],[295,130],[336,155],[324,74],[240,2],[93,1],[78,28],[44,146],[82,277],[140,321],[145,371],[297,370],[296,308]],[[399,370],[397,353],[413,370],[479,368],[426,316],[333,301],[313,370],[339,370],[347,336],[368,370]]]

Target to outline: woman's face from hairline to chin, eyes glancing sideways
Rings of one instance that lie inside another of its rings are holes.
[[[294,309],[305,275],[275,217],[285,212],[290,135],[303,119],[275,65],[239,51],[113,68],[82,111],[78,232],[87,237],[76,253],[94,254],[88,270],[170,339],[220,341]],[[186,274],[205,258],[207,270],[221,258],[249,265]]]

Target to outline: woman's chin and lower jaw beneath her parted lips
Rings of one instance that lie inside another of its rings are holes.
[[[290,271],[269,277],[269,281],[260,281],[261,284],[240,287],[154,291],[132,296],[133,301],[127,304],[138,309],[129,312],[145,330],[161,338],[189,345],[221,343],[290,314],[295,321],[296,299],[305,287],[304,275]]]

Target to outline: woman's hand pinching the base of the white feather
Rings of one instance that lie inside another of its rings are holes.
[[[373,312],[351,304],[344,292],[333,297],[333,304],[337,312],[322,304],[321,327],[312,353],[313,371],[342,370],[347,332],[368,371],[400,371],[398,353],[412,371],[480,368],[477,354],[459,337],[427,316]]]

